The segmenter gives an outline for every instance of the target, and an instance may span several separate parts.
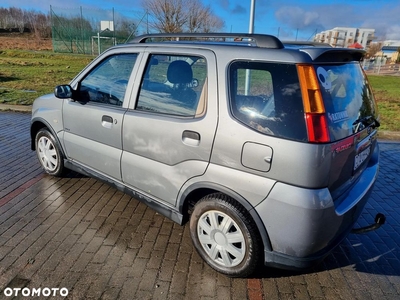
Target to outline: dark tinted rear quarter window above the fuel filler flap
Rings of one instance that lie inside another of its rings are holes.
[[[229,67],[233,116],[263,134],[307,141],[295,65],[233,62]]]

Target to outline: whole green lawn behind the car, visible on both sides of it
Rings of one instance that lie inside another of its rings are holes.
[[[0,50],[0,103],[30,105],[58,84],[70,82],[93,56],[50,51]],[[381,130],[400,132],[400,76],[368,76]]]

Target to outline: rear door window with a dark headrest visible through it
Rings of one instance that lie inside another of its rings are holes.
[[[205,112],[207,64],[200,56],[152,55],[136,110],[180,117]]]

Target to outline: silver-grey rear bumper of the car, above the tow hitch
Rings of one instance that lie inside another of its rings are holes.
[[[321,261],[351,231],[378,175],[379,150],[352,187],[333,201],[327,188],[277,183],[256,211],[270,240],[265,264],[307,268]]]

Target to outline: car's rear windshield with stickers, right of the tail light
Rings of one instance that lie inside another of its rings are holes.
[[[316,65],[331,141],[350,136],[364,128],[361,120],[377,116],[375,99],[359,63]]]

